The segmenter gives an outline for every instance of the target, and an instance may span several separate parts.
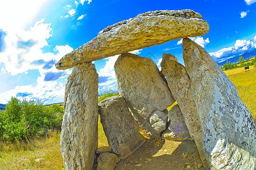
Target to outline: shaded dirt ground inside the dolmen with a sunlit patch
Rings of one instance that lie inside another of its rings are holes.
[[[194,141],[146,140],[137,151],[121,159],[115,169],[205,169]]]

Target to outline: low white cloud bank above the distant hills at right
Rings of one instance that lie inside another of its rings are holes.
[[[214,53],[209,53],[213,59],[218,59],[233,54],[240,54],[256,48],[256,36],[251,40],[237,40],[233,46],[223,48]]]

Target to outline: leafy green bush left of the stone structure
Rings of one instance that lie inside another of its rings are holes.
[[[0,139],[14,142],[60,130],[63,114],[64,108],[59,105],[46,107],[40,101],[20,101],[12,97],[6,111],[0,114]]]

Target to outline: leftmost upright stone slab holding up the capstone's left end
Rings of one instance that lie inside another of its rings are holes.
[[[65,87],[60,147],[66,169],[92,169],[98,145],[98,74],[81,63]]]

